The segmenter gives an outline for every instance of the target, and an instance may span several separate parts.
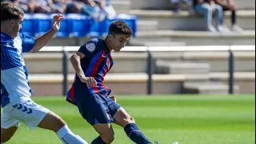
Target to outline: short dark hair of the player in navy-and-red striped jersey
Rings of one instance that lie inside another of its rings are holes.
[[[110,24],[109,34],[126,34],[127,37],[130,37],[133,35],[133,30],[130,29],[126,22],[114,21]]]

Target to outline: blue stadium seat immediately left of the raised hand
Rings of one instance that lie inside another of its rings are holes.
[[[52,18],[49,14],[34,14],[35,36],[39,37],[45,34],[52,27]]]

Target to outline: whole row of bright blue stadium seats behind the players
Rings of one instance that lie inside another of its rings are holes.
[[[22,34],[39,37],[45,34],[52,27],[54,14],[25,14],[22,23]],[[55,37],[59,38],[82,38],[86,36],[101,37],[106,36],[110,23],[115,20],[125,21],[136,35],[136,20],[132,15],[118,14],[115,18],[106,19],[103,22],[95,22],[93,18],[84,14],[66,14],[61,22],[61,28]],[[87,35],[88,34],[88,35]]]

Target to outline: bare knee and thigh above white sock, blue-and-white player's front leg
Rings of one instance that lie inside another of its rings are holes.
[[[66,122],[64,122],[62,118],[60,118],[57,114],[54,114],[54,112],[49,111],[42,119],[42,121],[38,124],[38,127],[57,132],[65,125]]]

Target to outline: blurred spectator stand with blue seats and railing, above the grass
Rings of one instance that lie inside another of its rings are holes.
[[[70,54],[90,38],[105,38],[118,19],[134,38],[113,53],[105,83],[114,94],[255,93],[254,0],[12,2],[26,12],[21,32],[34,37],[50,30],[53,14],[65,15],[42,52],[24,54],[34,95],[65,95],[74,79]]]

